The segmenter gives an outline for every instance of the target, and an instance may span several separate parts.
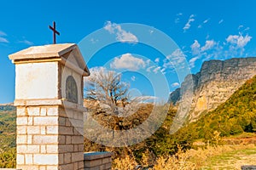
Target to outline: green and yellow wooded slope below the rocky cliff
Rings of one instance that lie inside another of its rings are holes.
[[[248,80],[224,104],[176,133],[183,140],[212,140],[219,136],[256,133],[256,76]]]

